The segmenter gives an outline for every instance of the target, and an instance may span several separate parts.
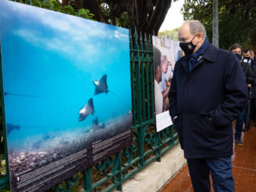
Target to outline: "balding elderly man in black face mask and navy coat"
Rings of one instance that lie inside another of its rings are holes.
[[[235,191],[232,178],[232,121],[247,103],[247,84],[233,53],[210,45],[199,20],[178,31],[185,56],[170,85],[170,116],[188,160],[194,191]]]

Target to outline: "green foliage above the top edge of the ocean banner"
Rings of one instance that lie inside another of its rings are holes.
[[[15,1],[15,0],[12,0]],[[62,6],[58,0],[19,0],[17,2],[28,5],[37,6],[44,9],[49,9],[61,13],[67,13],[73,16],[80,16],[85,19],[93,20],[93,13],[89,9],[74,9],[71,5]]]

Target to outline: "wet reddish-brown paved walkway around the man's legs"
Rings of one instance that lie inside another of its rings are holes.
[[[256,192],[256,128],[251,124],[251,129],[244,132],[242,137],[243,146],[234,144],[234,154],[232,155],[232,175],[235,189],[236,192]],[[167,191],[193,191],[187,165],[161,190],[161,192]],[[211,191],[214,191],[212,187]]]

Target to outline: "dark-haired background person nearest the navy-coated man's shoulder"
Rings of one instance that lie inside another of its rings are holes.
[[[241,62],[241,67],[243,68],[243,72],[245,74],[245,78],[246,78],[246,82],[247,82],[247,86],[248,88],[251,89],[251,84],[254,83],[254,74],[251,71],[251,67],[247,62],[243,62],[242,60],[242,46],[238,43],[231,45],[229,47],[229,51],[232,53],[235,53],[237,58],[240,60]],[[242,113],[240,114],[240,116],[238,118],[236,118],[236,133],[235,133],[235,142],[237,146],[243,146],[243,141],[241,139],[242,136],[242,132],[243,132],[243,122],[245,120],[245,116],[246,116],[246,112],[247,112],[247,107],[250,106],[250,103],[247,103],[242,110]],[[250,115],[249,115],[250,116]],[[248,117],[250,118],[250,117]],[[250,126],[250,121],[249,124],[246,126]]]

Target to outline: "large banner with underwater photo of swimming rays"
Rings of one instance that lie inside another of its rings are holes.
[[[0,2],[12,191],[43,191],[132,143],[129,31]]]

